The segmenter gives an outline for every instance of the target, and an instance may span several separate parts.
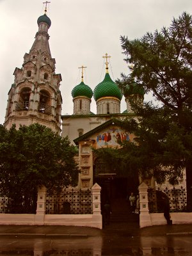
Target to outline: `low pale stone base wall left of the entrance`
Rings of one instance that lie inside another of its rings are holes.
[[[63,225],[102,229],[101,214],[1,214],[0,225]]]

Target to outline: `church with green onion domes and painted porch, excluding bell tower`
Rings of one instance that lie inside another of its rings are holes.
[[[124,95],[127,109],[121,113],[120,105],[123,95],[109,75],[108,58],[110,56],[106,53],[103,58],[106,58],[106,74],[103,81],[95,86],[93,92],[88,85],[84,84],[84,67],[81,67],[81,83],[72,90],[73,114],[61,116],[62,136],[68,136],[69,140],[79,148],[78,161],[81,173],[78,188],[90,189],[97,182],[102,188],[102,195],[115,200],[114,196],[125,198],[131,191],[138,193],[139,177],[137,175],[131,179],[119,177],[112,165],[109,168],[107,159],[98,158],[92,148],[120,147],[119,142],[134,139],[134,134],[125,132],[116,121],[134,116],[130,99],[135,97],[138,104],[142,104],[144,93],[136,88],[127,88]],[[92,96],[97,104],[96,114],[90,111]]]

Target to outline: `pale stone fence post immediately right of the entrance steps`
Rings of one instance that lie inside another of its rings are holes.
[[[152,225],[148,212],[148,186],[142,182],[138,189],[140,191],[140,227],[148,227]]]

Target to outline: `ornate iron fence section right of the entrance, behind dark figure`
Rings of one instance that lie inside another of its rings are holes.
[[[170,212],[184,212],[187,206],[187,191],[182,186],[172,189],[148,189],[149,212],[163,212],[162,196],[166,195],[170,202]]]

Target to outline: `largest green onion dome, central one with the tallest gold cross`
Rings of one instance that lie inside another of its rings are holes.
[[[116,97],[117,99],[122,99],[122,93],[117,84],[113,82],[108,73],[104,77],[104,81],[97,84],[93,92],[93,97],[97,101],[102,97]]]

